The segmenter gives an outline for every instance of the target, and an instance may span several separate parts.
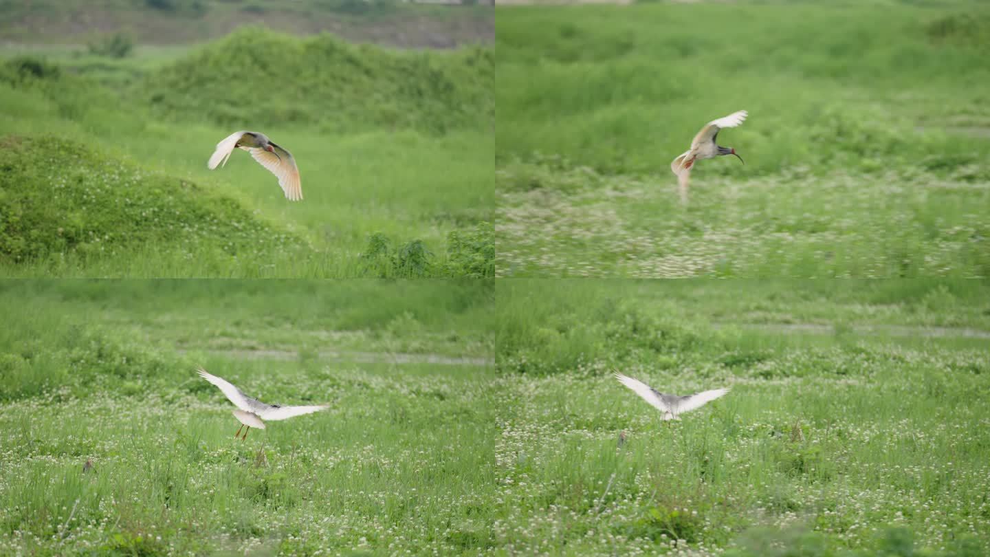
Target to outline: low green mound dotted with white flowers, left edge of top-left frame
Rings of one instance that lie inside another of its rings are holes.
[[[156,245],[230,256],[305,243],[237,201],[52,136],[0,139],[0,260]]]

